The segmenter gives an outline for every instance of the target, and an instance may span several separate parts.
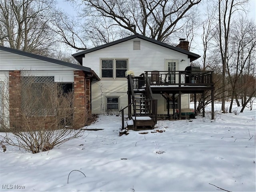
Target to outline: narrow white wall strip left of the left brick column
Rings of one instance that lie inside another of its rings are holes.
[[[1,90],[0,94],[3,94],[0,96],[1,104],[0,104],[0,118],[3,118],[4,124],[6,124],[7,127],[9,127],[9,72],[8,71],[0,71],[0,84],[1,84]],[[3,86],[3,87],[2,87]]]

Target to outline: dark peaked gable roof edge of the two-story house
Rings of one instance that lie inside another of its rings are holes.
[[[125,41],[128,41],[128,40],[134,39],[134,38],[140,38],[142,40],[145,40],[145,41],[163,46],[165,48],[168,48],[168,49],[186,54],[186,55],[188,55],[188,58],[190,58],[190,61],[194,61],[194,60],[200,58],[200,55],[198,55],[198,54],[195,54],[195,53],[189,52],[187,50],[184,50],[184,49],[181,49],[181,48],[178,48],[178,47],[160,42],[160,41],[152,39],[152,38],[148,38],[148,37],[140,35],[140,34],[134,34],[134,35],[128,36],[126,38],[122,38],[122,39],[119,39],[119,40],[116,40],[116,41],[113,41],[113,42],[110,42],[110,43],[107,43],[107,44],[104,44],[104,45],[100,45],[100,46],[97,46],[97,47],[94,47],[94,48],[91,48],[91,49],[87,49],[87,50],[84,50],[82,52],[72,54],[72,56],[74,58],[76,58],[76,60],[78,60],[78,62],[80,64],[82,64],[82,58],[84,57],[84,54],[88,54],[90,52],[94,52],[94,51],[97,51],[97,50],[100,50],[100,49],[103,49],[103,48],[106,48],[106,47],[109,47],[109,46],[112,46],[112,45],[116,45],[118,43],[122,43],[122,42],[125,42]]]

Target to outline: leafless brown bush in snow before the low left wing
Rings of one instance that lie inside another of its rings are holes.
[[[21,82],[20,92],[10,97],[2,95],[5,100],[2,103],[6,105],[2,110],[10,108],[10,114],[15,116],[11,121],[9,118],[10,127],[1,118],[1,129],[8,130],[1,138],[3,145],[38,153],[81,136],[78,120],[74,119],[72,90],[64,93],[60,84],[36,83],[33,77]]]

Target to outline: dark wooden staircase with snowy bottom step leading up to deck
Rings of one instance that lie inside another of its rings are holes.
[[[147,84],[148,82],[148,84]],[[157,100],[153,99],[149,80],[146,80],[144,88],[134,87],[132,77],[128,76],[128,117],[130,121],[127,128],[132,130],[143,130],[154,128],[157,122]],[[122,112],[122,129],[124,129],[124,109]]]

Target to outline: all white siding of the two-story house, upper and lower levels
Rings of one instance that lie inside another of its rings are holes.
[[[140,41],[140,50],[133,50],[133,41]],[[186,54],[164,48],[151,42],[135,38],[116,44],[101,50],[85,54],[83,66],[90,67],[101,78],[101,59],[128,59],[128,70],[134,71],[139,76],[144,71],[164,71],[165,60],[178,60],[179,66],[176,70],[184,70],[189,66],[190,59]],[[185,60],[180,62],[180,60]],[[127,106],[127,79],[104,79],[92,83],[92,113],[102,113],[105,107],[106,96],[119,96],[120,108]],[[164,98],[160,94],[154,96],[158,100],[158,114],[166,114],[164,110]],[[182,108],[188,107],[188,95],[182,95]]]

